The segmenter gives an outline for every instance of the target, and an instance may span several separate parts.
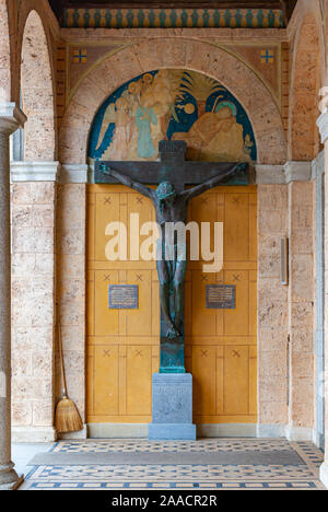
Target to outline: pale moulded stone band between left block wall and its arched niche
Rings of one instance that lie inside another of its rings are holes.
[[[11,162],[10,178],[16,182],[57,182],[59,162]]]

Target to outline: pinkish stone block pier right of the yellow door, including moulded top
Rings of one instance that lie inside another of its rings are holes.
[[[313,183],[308,162],[257,165],[257,434],[312,440]],[[280,242],[290,241],[289,286],[281,282]]]

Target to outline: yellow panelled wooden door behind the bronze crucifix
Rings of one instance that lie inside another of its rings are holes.
[[[160,300],[155,264],[106,258],[109,222],[154,221],[149,199],[119,185],[89,186],[87,421],[151,421],[152,374],[159,371]],[[218,187],[194,199],[189,218],[223,222],[224,265],[186,277],[186,368],[194,375],[196,423],[253,423],[257,415],[257,190]],[[142,243],[142,236],[141,236]],[[212,247],[213,248],[213,247]],[[128,257],[130,238],[128,235]],[[234,310],[206,307],[206,287],[236,287]],[[137,310],[109,310],[109,284],[137,284]]]

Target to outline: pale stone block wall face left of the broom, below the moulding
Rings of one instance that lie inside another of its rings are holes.
[[[12,422],[54,438],[55,183],[12,186]]]

